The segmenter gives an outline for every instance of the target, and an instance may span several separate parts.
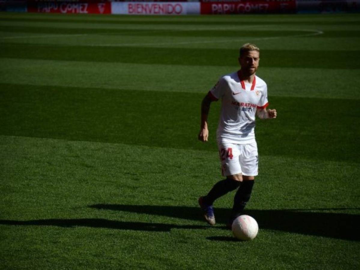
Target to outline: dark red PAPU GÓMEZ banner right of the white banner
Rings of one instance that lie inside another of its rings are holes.
[[[201,14],[296,13],[295,1],[201,3]]]

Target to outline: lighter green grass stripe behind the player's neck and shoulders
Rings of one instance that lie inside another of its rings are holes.
[[[16,84],[206,93],[224,74],[239,69],[219,66],[149,65],[2,58],[0,87]],[[99,72],[101,70],[101,72]],[[359,100],[356,91],[360,69],[260,67],[257,75],[267,82],[269,97],[318,97]],[[322,78],[319,80],[319,78]],[[339,80],[341,78],[341,80]],[[346,81],[344,86],[343,81]],[[341,91],[339,91],[341,89]]]

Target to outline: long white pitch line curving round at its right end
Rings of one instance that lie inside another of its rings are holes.
[[[302,35],[290,35],[290,36],[278,36],[278,37],[258,37],[252,38],[251,40],[272,40],[278,38],[288,38],[288,37],[310,37],[310,36],[318,36],[322,35],[324,32],[321,30],[306,30],[300,29],[296,31],[302,32],[312,32],[308,34]],[[224,43],[224,42],[235,42],[241,40],[249,40],[249,38],[235,38],[231,40],[209,40],[209,41],[192,41],[192,42],[163,42],[163,43],[123,43],[123,44],[89,44],[87,46],[94,46],[94,47],[125,47],[125,46],[141,46],[141,45],[184,45],[184,44],[208,44],[208,43]]]

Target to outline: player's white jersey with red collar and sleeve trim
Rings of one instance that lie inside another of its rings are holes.
[[[256,109],[268,105],[266,83],[257,76],[252,84],[240,81],[239,72],[221,77],[208,93],[214,101],[221,99],[218,142],[254,142]]]

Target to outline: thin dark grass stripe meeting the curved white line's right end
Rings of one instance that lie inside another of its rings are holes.
[[[151,23],[150,23],[151,24]],[[232,24],[234,26],[234,24]],[[243,26],[242,23],[239,23],[239,26]],[[275,27],[276,29],[276,27]],[[1,32],[11,32],[11,33],[36,33],[36,34],[99,34],[99,35],[116,35],[116,36],[174,36],[174,37],[291,37],[296,35],[306,35],[314,33],[315,31],[311,30],[172,30],[172,29],[116,29],[116,28],[61,28],[59,24],[58,28],[54,27],[18,27],[18,26],[7,26],[0,27]],[[324,31],[321,34],[321,37],[359,37],[360,31]],[[316,38],[318,36],[315,36]]]

